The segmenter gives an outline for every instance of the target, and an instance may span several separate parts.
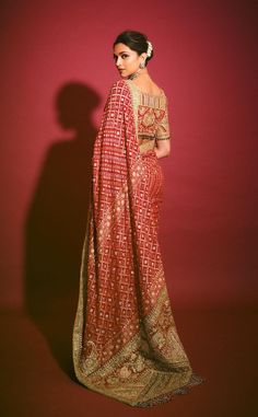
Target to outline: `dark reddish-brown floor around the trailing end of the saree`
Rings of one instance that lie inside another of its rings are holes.
[[[171,403],[142,409],[80,385],[71,361],[71,308],[0,316],[2,417],[256,417],[257,311],[174,311],[192,368],[206,378]],[[60,314],[59,314],[60,312]]]

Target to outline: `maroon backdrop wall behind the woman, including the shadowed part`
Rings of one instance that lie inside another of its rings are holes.
[[[77,294],[90,154],[125,28],[149,35],[171,103],[161,244],[173,303],[255,302],[255,2],[3,4],[0,304]]]

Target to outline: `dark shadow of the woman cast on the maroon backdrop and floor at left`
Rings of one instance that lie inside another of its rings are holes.
[[[72,378],[72,326],[97,134],[92,113],[99,101],[82,83],[67,83],[58,91],[58,121],[74,136],[59,139],[47,151],[24,231],[26,311]]]

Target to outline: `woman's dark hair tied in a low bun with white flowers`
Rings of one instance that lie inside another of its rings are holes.
[[[148,50],[148,37],[143,33],[136,31],[125,31],[117,36],[116,40],[113,44],[113,47],[117,44],[127,45],[130,49],[136,50],[138,55],[146,53]],[[145,65],[153,57],[153,49],[151,56],[146,57]]]

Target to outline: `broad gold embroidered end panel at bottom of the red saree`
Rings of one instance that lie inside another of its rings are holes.
[[[91,345],[91,344],[90,344]],[[95,350],[81,362],[79,380],[105,395],[138,405],[187,385],[192,371],[178,338],[166,288],[139,333],[107,363],[97,368]]]

